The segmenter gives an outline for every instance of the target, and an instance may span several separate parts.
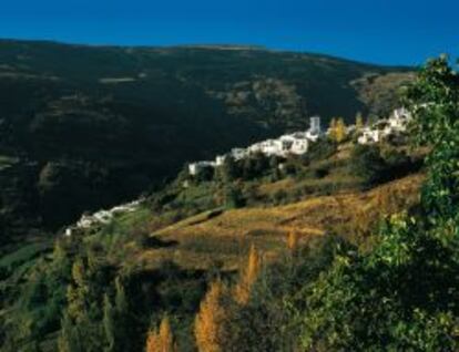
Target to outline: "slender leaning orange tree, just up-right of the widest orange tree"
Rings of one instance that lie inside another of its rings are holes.
[[[258,277],[262,259],[255,246],[252,245],[248,253],[247,266],[234,288],[234,298],[239,304],[246,304],[251,298],[252,286]]]

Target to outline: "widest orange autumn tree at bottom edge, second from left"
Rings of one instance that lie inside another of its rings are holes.
[[[223,352],[227,343],[228,312],[225,309],[226,287],[221,281],[211,284],[200,306],[194,335],[200,352]]]

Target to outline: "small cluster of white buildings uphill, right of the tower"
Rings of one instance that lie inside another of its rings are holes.
[[[408,110],[405,107],[397,108],[388,118],[379,120],[374,125],[364,127],[357,143],[374,144],[390,135],[405,133],[410,120],[411,114]]]

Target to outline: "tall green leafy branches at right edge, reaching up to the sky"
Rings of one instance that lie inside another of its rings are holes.
[[[417,142],[432,148],[422,189],[428,220],[448,221],[455,218],[459,201],[459,77],[448,58],[430,60],[406,96]]]

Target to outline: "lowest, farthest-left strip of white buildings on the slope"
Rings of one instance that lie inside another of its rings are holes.
[[[137,199],[109,210],[99,210],[91,215],[82,215],[75,225],[65,229],[64,234],[65,236],[72,236],[75,230],[85,230],[98,225],[106,225],[118,215],[135,211],[142,201],[143,199]]]

